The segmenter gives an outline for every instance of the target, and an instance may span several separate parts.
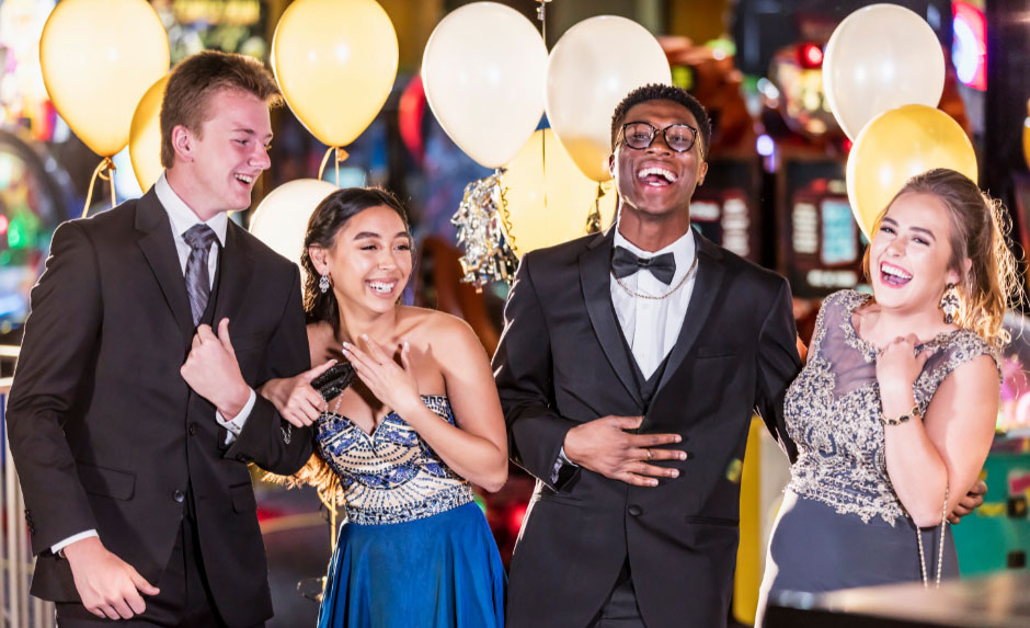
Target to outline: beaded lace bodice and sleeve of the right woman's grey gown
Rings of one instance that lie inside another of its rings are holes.
[[[842,290],[823,301],[808,363],[785,400],[787,431],[798,445],[787,489],[865,523],[879,516],[893,526],[906,515],[886,472],[878,352],[851,321],[869,298]],[[913,385],[924,413],[940,384],[962,364],[984,354],[998,364],[991,346],[965,329],[938,334],[917,349],[930,352]]]

